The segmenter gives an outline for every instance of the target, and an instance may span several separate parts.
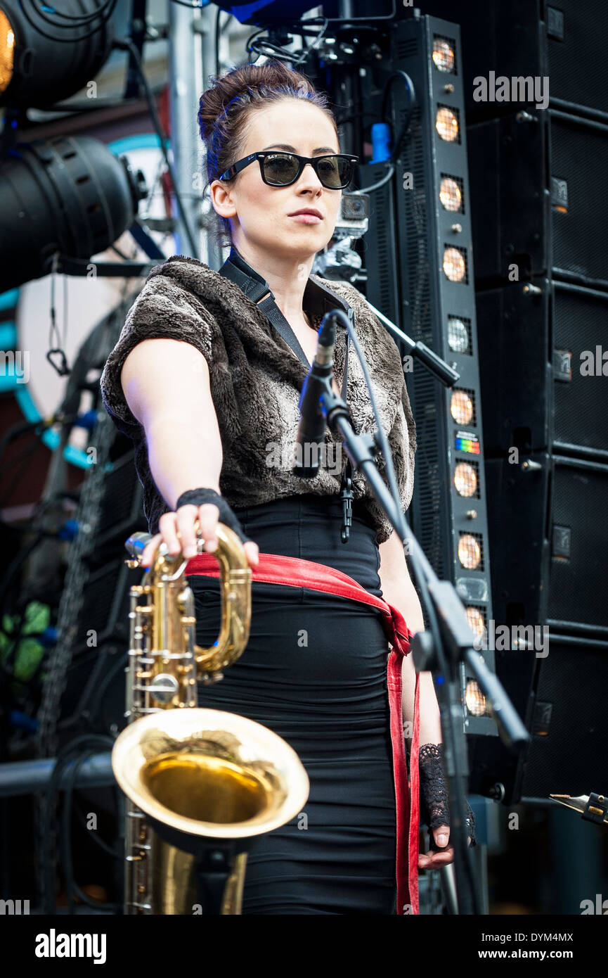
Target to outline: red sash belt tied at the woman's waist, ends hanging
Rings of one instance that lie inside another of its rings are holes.
[[[419,913],[418,904],[418,741],[419,741],[419,676],[416,673],[413,707],[413,738],[410,755],[410,787],[406,766],[406,748],[402,715],[402,658],[410,651],[413,633],[400,611],[382,598],[370,595],[348,574],[313,560],[278,554],[260,554],[257,567],[251,567],[251,580],[283,584],[294,588],[326,591],[350,600],[363,601],[377,608],[388,641],[392,645],[387,664],[387,686],[390,709],[390,734],[393,749],[393,775],[397,816],[397,913]],[[219,577],[220,568],[213,554],[192,557],[186,574]]]

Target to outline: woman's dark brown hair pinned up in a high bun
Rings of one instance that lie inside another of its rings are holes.
[[[211,75],[210,87],[200,96],[198,128],[206,146],[207,183],[232,166],[244,143],[244,130],[251,112],[264,109],[270,103],[282,99],[302,99],[318,106],[338,135],[333,112],[329,109],[326,95],[318,92],[309,79],[273,60],[265,65],[241,65],[224,75]],[[238,179],[233,177],[233,180]],[[232,181],[230,181],[232,183]],[[232,244],[230,220],[217,215],[220,230],[218,244]]]

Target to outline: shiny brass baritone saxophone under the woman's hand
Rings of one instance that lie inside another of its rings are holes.
[[[230,527],[218,523],[217,538],[222,623],[213,645],[195,645],[182,554],[161,543],[129,593],[127,726],[111,752],[126,795],[125,914],[239,914],[247,852],[308,798],[306,770],[282,737],[196,706],[196,684],[222,679],[249,638],[251,569]],[[129,567],[141,566],[150,539],[129,537]]]

